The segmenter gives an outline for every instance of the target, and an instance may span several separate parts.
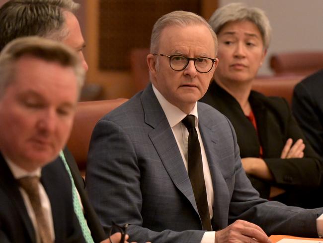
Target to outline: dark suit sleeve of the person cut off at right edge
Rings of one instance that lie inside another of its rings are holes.
[[[306,138],[323,158],[323,127],[320,108],[303,83],[299,83],[294,89],[292,110]]]

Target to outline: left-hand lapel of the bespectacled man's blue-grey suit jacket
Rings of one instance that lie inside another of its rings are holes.
[[[152,85],[149,85],[141,96],[145,122],[154,129],[148,134],[161,158],[169,177],[177,189],[190,201],[195,211],[197,206],[190,180],[173,132],[162,111]]]

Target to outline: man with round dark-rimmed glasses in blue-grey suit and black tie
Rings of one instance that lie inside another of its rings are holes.
[[[147,56],[151,84],[103,117],[90,142],[87,189],[105,231],[112,219],[129,223],[128,233],[137,242],[267,243],[266,234],[317,237],[316,219],[323,209],[259,198],[242,168],[231,123],[197,102],[208,88],[216,56],[216,35],[202,17],[174,11],[155,23]],[[202,197],[193,189],[191,177],[198,171],[189,170],[191,130],[181,122],[187,115],[198,124],[192,129],[201,148],[200,182],[211,230],[199,213]]]

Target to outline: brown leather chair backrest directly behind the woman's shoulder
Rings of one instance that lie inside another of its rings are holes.
[[[293,91],[304,75],[258,77],[252,83],[252,90],[266,96],[280,96],[292,104]]]

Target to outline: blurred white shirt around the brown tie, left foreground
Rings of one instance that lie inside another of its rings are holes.
[[[22,177],[25,176],[41,176],[41,168],[33,171],[33,172],[29,172],[26,171],[22,168],[20,168],[19,166],[17,166],[16,164],[12,163],[9,159],[5,158],[5,161],[9,167],[9,169],[11,170],[11,173],[13,175],[13,177],[15,179],[20,179]],[[19,187],[21,196],[23,198],[23,201],[25,203],[26,209],[27,209],[27,213],[29,215],[29,218],[33,224],[33,227],[35,229],[35,232],[38,232],[38,227],[37,227],[37,222],[36,222],[36,217],[35,217],[35,212],[31,206],[29,197],[27,195],[27,193],[25,192],[24,189],[22,189],[21,187]],[[47,219],[47,222],[49,224],[49,229],[50,229],[50,233],[51,233],[51,238],[53,239],[53,242],[55,240],[55,233],[54,233],[54,223],[53,223],[53,216],[52,216],[52,208],[51,208],[51,203],[49,201],[49,198],[47,196],[47,193],[43,187],[43,185],[41,183],[39,183],[39,196],[40,196],[40,201],[41,201],[41,205],[43,208],[43,212],[45,214],[45,217]],[[39,238],[39,234],[36,234],[36,241],[37,243],[40,243],[40,238]]]

